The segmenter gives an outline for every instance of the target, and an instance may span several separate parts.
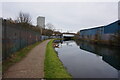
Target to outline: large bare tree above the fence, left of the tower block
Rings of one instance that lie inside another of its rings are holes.
[[[31,17],[28,13],[20,12],[19,16],[17,17],[17,22],[31,24]]]

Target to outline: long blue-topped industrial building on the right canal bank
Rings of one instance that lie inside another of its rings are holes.
[[[109,25],[80,30],[80,38],[85,40],[109,41],[120,32],[120,20]]]

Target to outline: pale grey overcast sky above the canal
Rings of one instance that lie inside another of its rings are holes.
[[[56,29],[77,32],[81,29],[110,24],[118,20],[118,2],[4,2],[2,17],[16,19],[22,11],[32,23],[44,16]]]

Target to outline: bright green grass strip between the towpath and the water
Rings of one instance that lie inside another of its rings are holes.
[[[53,39],[47,44],[44,72],[45,78],[72,78],[59,60],[53,46]]]

